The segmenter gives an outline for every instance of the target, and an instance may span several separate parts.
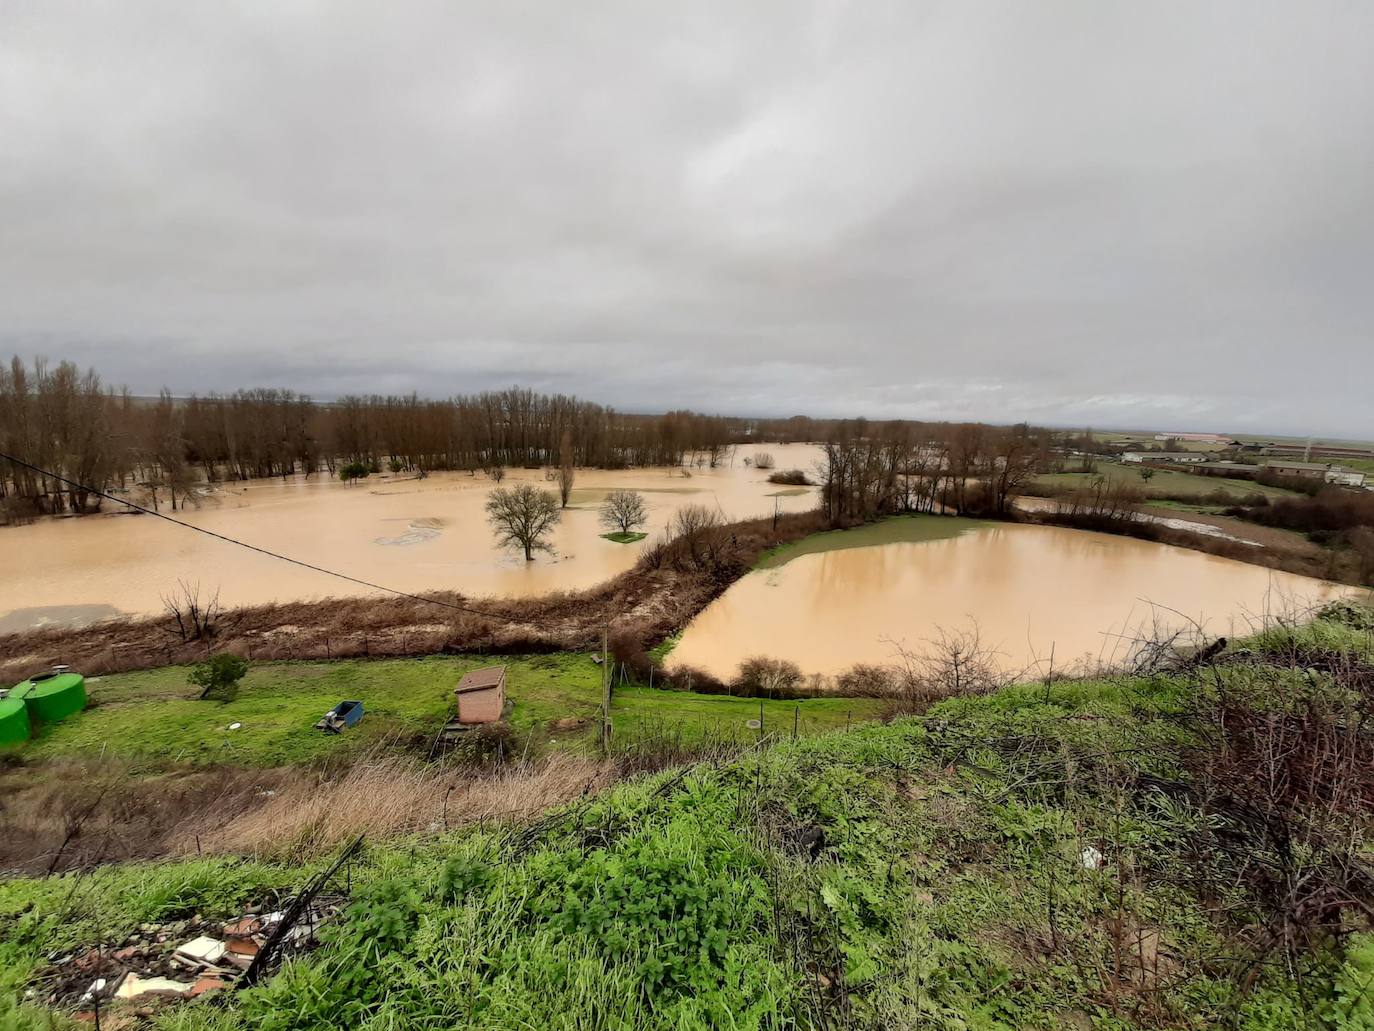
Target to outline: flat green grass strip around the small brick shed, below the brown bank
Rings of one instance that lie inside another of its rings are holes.
[[[23,755],[51,759],[104,755],[140,762],[235,763],[286,766],[356,753],[379,744],[427,742],[445,720],[453,687],[469,669],[504,664],[507,694],[514,701],[513,729],[547,738],[559,719],[591,720],[599,712],[602,671],[591,656],[431,656],[426,658],[349,660],[334,663],[264,663],[243,678],[227,704],[196,700],[185,667],[165,667],[93,678],[91,708],[44,727]],[[326,711],[345,698],[363,702],[365,715],[342,734],[313,730]],[[871,719],[879,704],[867,698],[808,698],[801,707],[807,733]],[[791,726],[794,702],[767,701],[765,720]],[[746,734],[758,702],[647,687],[617,687],[611,720],[617,741],[661,735],[665,722],[680,724],[684,738]],[[231,724],[239,726],[229,730]],[[591,749],[589,731],[554,735],[559,748]]]

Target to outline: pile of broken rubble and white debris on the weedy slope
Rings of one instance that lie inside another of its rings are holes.
[[[341,895],[317,895],[290,927],[283,927],[290,910],[287,902],[272,910],[250,906],[227,924],[199,916],[142,924],[118,944],[87,946],[48,957],[52,964],[45,979],[51,987],[48,1002],[74,1008],[78,1020],[122,1004],[151,1016],[168,1001],[232,988],[269,946],[268,964],[273,968],[286,957],[312,949],[320,925],[342,905]]]

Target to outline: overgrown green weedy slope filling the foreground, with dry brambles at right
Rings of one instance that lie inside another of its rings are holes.
[[[1374,1027],[1367,613],[372,843],[330,942],[159,1028]],[[300,865],[0,887],[45,957],[229,916]],[[37,980],[34,980],[37,979]],[[106,1020],[110,1015],[106,1015]],[[60,1020],[60,1019],[58,1019]]]

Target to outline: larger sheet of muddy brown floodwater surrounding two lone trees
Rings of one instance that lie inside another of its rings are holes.
[[[554,555],[526,562],[497,551],[484,506],[485,476],[436,473],[425,480],[370,477],[345,487],[298,477],[225,484],[177,518],[302,561],[403,591],[453,590],[517,597],[591,587],[633,565],[640,544],[603,540],[598,506],[607,491],[635,489],[649,507],[650,540],[684,505],[708,505],[730,520],[815,506],[815,492],[769,484],[745,465],[756,451],[778,469],[811,473],[820,448],[741,447],[719,469],[578,470],[570,507],[552,537]],[[540,470],[510,470],[552,489]],[[780,496],[774,498],[775,494]],[[81,624],[121,613],[154,613],[177,580],[220,591],[227,606],[365,594],[365,588],[258,555],[148,516],[107,514],[0,528],[0,632]],[[647,542],[646,542],[647,543]]]

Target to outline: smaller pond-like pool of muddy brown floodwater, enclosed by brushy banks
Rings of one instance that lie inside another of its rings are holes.
[[[1051,646],[1057,669],[1084,668],[1125,660],[1127,638],[1156,621],[1178,628],[1189,617],[1232,636],[1345,594],[1363,592],[1132,537],[999,525],[749,573],[691,621],[671,665],[728,679],[763,654],[829,676],[893,661],[893,642],[921,652],[938,628],[977,623],[1009,671],[1033,667]]]

